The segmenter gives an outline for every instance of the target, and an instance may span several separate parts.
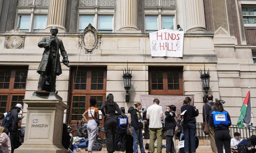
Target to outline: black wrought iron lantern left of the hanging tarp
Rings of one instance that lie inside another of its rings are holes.
[[[132,71],[132,70],[131,70]],[[124,85],[125,85],[125,91],[126,91],[126,95],[125,95],[125,102],[129,102],[130,100],[130,96],[129,96],[129,90],[131,89],[131,71],[130,68],[128,69],[128,61],[127,61],[127,69],[123,70],[123,76],[122,78],[124,78]]]

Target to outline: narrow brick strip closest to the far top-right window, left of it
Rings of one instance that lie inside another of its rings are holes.
[[[237,39],[237,44],[241,45],[238,19],[237,19],[237,13],[236,13],[236,0],[231,0],[231,11],[232,11],[232,20],[233,20],[233,25],[234,25],[235,37]]]

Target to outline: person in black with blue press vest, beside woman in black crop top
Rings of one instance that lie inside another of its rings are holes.
[[[117,147],[118,142],[121,142],[121,153],[125,152],[125,142],[127,135],[127,126],[128,126],[128,117],[125,115],[125,107],[120,107],[121,115],[117,116],[118,118],[118,126],[116,131],[115,138],[115,149]]]

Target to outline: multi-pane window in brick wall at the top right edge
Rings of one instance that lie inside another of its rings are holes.
[[[244,25],[256,26],[256,7],[242,7]]]

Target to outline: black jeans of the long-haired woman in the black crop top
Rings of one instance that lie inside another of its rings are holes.
[[[108,114],[104,118],[104,130],[106,137],[106,146],[108,153],[115,151],[115,137],[116,137],[117,120],[115,115]]]

